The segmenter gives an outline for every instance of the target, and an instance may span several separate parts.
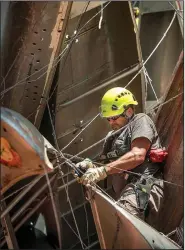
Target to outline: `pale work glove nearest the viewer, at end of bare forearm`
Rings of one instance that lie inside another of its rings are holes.
[[[89,168],[81,178],[79,178],[78,182],[83,185],[89,185],[96,182],[99,182],[107,177],[107,172],[104,167],[98,168]]]

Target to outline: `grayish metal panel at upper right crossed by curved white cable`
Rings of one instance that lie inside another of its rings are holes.
[[[140,40],[144,60],[146,60],[163,36],[172,20],[173,13],[173,11],[166,11],[141,16]],[[152,84],[158,98],[163,96],[169,85],[172,72],[182,49],[183,37],[178,19],[175,18],[168,34],[146,64],[146,69],[152,79]],[[148,101],[156,100],[150,85],[148,85],[147,93]]]

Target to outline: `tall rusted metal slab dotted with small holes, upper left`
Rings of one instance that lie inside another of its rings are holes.
[[[71,3],[30,1],[10,4],[1,90],[20,85],[5,94],[2,102],[29,117],[37,126],[45,107],[43,98],[49,95],[51,67],[65,32],[65,14],[68,12],[69,15],[70,11],[68,5]],[[36,113],[39,104],[40,112]]]

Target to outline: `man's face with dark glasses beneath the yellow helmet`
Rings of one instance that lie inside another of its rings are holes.
[[[134,114],[134,111],[132,108],[129,108],[125,113],[128,117],[131,117]],[[107,120],[113,130],[118,130],[128,123],[128,119],[123,116],[118,116],[118,118],[108,118]]]

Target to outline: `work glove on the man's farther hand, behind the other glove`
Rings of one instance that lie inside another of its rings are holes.
[[[75,178],[81,177],[89,168],[96,168],[89,158],[84,159],[83,161],[76,164],[76,170],[73,171]]]

